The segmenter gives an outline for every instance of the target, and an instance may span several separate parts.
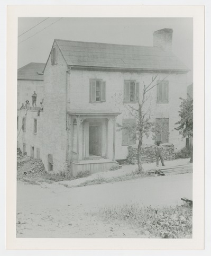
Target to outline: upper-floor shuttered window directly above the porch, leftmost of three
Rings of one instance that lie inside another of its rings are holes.
[[[106,101],[106,82],[99,79],[90,79],[89,84],[89,102]]]

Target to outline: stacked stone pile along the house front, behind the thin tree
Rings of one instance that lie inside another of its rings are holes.
[[[141,148],[142,163],[156,162],[155,145],[143,145]],[[175,146],[173,144],[162,144],[162,155],[164,161],[175,160]],[[128,146],[127,164],[137,164],[137,145]]]

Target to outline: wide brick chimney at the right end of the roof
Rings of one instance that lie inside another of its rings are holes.
[[[153,32],[153,46],[159,47],[164,51],[172,49],[172,29],[160,29]]]

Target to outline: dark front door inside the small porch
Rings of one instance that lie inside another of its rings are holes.
[[[89,156],[101,155],[101,131],[100,125],[89,126]]]

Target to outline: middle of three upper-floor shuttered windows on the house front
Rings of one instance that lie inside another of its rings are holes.
[[[124,102],[137,102],[139,99],[139,83],[130,80],[124,81]]]

